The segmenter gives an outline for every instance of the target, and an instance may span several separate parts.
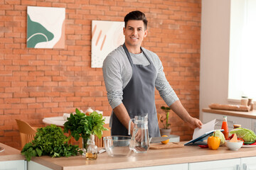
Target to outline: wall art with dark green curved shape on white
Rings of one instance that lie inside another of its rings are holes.
[[[65,8],[28,6],[27,47],[65,47]]]

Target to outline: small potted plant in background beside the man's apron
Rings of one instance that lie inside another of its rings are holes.
[[[164,111],[165,117],[161,118],[161,123],[164,125],[164,128],[160,129],[161,136],[162,135],[170,135],[171,133],[171,123],[169,123],[169,114],[171,111],[171,108],[161,106],[161,110]],[[165,121],[165,123],[164,123]]]

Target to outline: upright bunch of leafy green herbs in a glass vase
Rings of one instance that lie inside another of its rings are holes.
[[[86,115],[76,108],[75,114],[70,113],[70,118],[64,123],[64,132],[70,130],[71,136],[73,136],[76,141],[82,137],[82,155],[85,155],[87,140],[90,139],[90,135],[96,135],[100,139],[102,137],[102,130],[108,130],[103,127],[104,124],[105,118],[102,118],[102,114],[93,111]]]

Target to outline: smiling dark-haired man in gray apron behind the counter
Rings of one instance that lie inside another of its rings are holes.
[[[144,13],[132,11],[124,17],[124,23],[125,42],[107,55],[102,67],[107,98],[113,108],[111,135],[128,135],[129,120],[135,115],[148,115],[149,136],[160,136],[155,87],[171,110],[191,128],[201,128],[201,121],[188,114],[166,80],[159,57],[141,47],[147,35]]]

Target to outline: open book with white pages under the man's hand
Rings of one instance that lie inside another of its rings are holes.
[[[206,139],[206,137],[208,137],[210,134],[212,134],[215,130],[214,130],[214,126],[215,126],[215,121],[211,120],[210,122],[203,124],[202,128],[196,128],[193,132],[193,139],[186,142],[184,145],[188,145],[188,144],[193,144],[195,142],[202,142],[203,140]],[[223,131],[223,130],[220,130]]]

